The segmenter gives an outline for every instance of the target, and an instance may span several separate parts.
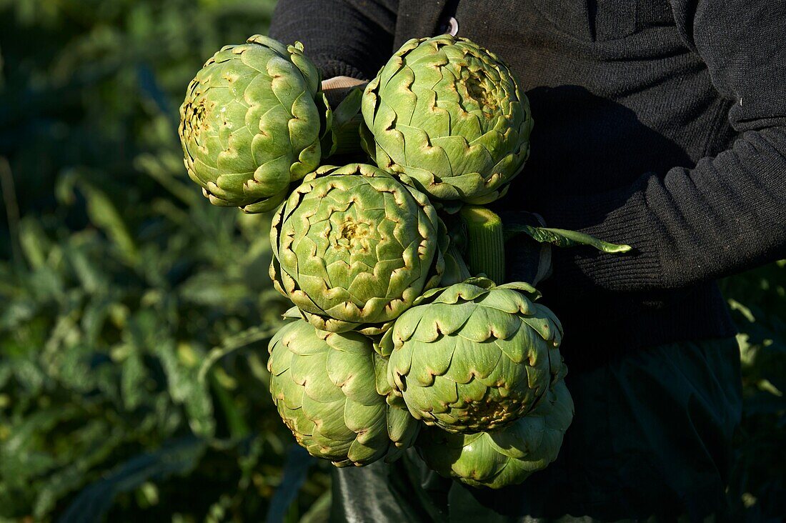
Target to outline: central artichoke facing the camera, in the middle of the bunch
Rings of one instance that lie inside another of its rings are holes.
[[[439,285],[446,242],[420,191],[371,165],[327,166],[274,216],[270,277],[318,329],[379,334]]]

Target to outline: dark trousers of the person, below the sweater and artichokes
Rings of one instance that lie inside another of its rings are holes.
[[[465,487],[410,451],[336,470],[332,521],[726,521],[742,405],[734,338],[629,352],[566,383],[575,418],[560,455],[523,484]]]

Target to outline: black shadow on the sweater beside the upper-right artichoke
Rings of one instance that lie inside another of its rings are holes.
[[[584,87],[536,87],[527,98],[534,118],[531,156],[502,206],[520,204],[520,197],[601,193],[630,186],[645,172],[664,175],[695,164],[631,109]]]

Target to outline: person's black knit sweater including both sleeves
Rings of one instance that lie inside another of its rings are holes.
[[[555,253],[567,363],[733,334],[714,279],[786,256],[786,2],[281,0],[270,35],[369,79],[451,14],[531,103],[498,209],[636,249]]]

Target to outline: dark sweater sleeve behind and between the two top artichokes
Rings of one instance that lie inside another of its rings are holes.
[[[370,79],[393,53],[398,0],[279,0],[270,36],[303,42],[325,79]]]

